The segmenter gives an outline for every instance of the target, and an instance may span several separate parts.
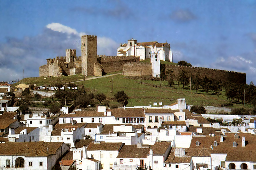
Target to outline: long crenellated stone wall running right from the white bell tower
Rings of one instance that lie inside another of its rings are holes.
[[[187,67],[181,65],[165,65],[166,70],[173,70],[174,76],[178,76],[179,72],[184,70],[188,74],[195,75],[199,74],[199,77],[208,77],[217,80],[221,80],[222,82],[233,82],[239,84],[246,84],[246,73],[239,73],[235,71],[227,71],[227,70],[218,70],[211,68],[202,68],[202,67]]]

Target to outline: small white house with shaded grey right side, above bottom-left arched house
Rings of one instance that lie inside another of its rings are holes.
[[[32,127],[9,129],[8,140],[9,142],[38,142],[39,131],[39,128]]]

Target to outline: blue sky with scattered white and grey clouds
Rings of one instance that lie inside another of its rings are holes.
[[[99,55],[120,43],[168,42],[174,62],[247,74],[256,83],[255,0],[5,0],[0,2],[0,81],[39,76],[47,58],[81,55],[97,35]]]

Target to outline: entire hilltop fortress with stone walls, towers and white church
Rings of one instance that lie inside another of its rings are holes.
[[[224,82],[246,84],[246,74],[234,71],[217,70],[201,67],[184,67],[160,64],[160,60],[173,61],[170,44],[158,42],[139,42],[128,40],[120,44],[117,56],[97,55],[97,36],[81,37],[81,54],[76,56],[76,49],[66,49],[66,56],[47,59],[47,64],[39,67],[39,76],[57,77],[82,73],[85,76],[101,76],[105,73],[123,71],[125,76],[159,77],[161,71],[173,70],[177,76],[181,70],[200,77],[207,76]],[[139,60],[150,58],[150,63]]]

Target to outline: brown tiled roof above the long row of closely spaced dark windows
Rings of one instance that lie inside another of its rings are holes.
[[[116,118],[145,118],[143,109],[108,109]]]

